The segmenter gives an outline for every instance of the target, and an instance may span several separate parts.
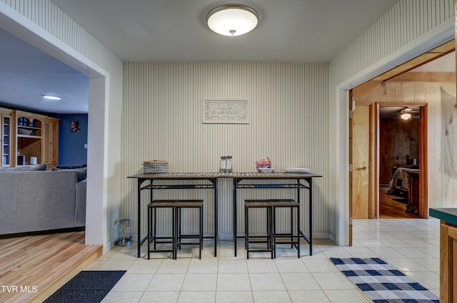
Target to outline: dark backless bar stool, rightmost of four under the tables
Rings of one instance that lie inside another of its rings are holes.
[[[273,199],[269,200],[271,207],[273,208],[273,215],[272,215],[272,223],[273,225],[273,253],[274,257],[276,258],[276,245],[278,244],[290,244],[291,248],[294,246],[296,247],[297,250],[297,255],[298,258],[300,257],[300,203],[296,202],[293,199],[286,199],[286,200],[281,200],[281,199]],[[277,208],[283,208],[287,207],[290,208],[291,210],[291,217],[290,217],[290,232],[288,233],[281,233],[278,234],[276,233],[276,209]],[[293,234],[293,209],[296,210],[296,235]],[[277,240],[280,240],[278,242]]]

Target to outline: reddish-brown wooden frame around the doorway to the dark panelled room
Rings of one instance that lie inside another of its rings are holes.
[[[427,188],[427,183],[428,183],[428,156],[427,156],[427,148],[428,148],[428,143],[427,143],[427,138],[428,138],[428,132],[427,132],[427,103],[406,103],[406,102],[395,102],[395,103],[390,103],[390,102],[376,102],[376,148],[375,154],[371,155],[373,158],[376,159],[376,165],[373,166],[376,168],[376,173],[375,173],[375,186],[376,186],[376,205],[373,205],[373,207],[376,207],[376,217],[379,218],[379,112],[380,108],[383,106],[419,106],[419,217],[423,219],[428,218],[428,188]]]

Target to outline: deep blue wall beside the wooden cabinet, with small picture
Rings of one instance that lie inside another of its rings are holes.
[[[59,165],[87,163],[87,114],[59,115]],[[79,133],[72,133],[70,123],[79,120]]]

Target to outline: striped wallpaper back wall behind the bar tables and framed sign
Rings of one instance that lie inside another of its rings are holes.
[[[328,236],[327,68],[325,63],[125,62],[124,177],[141,173],[144,160],[168,160],[171,172],[215,172],[221,155],[233,155],[236,171],[255,171],[254,162],[263,156],[271,157],[278,171],[311,168],[324,176],[314,191],[314,230]],[[202,123],[205,98],[247,100],[250,123]],[[133,189],[134,180],[124,183],[120,212],[136,225]],[[211,191],[161,192],[157,197],[167,195],[200,196],[208,207],[212,201]],[[229,180],[221,180],[219,202],[219,232],[229,235]],[[146,222],[141,229],[146,232]]]

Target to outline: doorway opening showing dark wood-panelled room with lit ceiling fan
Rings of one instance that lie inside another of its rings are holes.
[[[377,104],[378,218],[427,217],[426,183],[420,184],[427,178],[427,167],[421,165],[427,163],[424,111],[426,104]]]

